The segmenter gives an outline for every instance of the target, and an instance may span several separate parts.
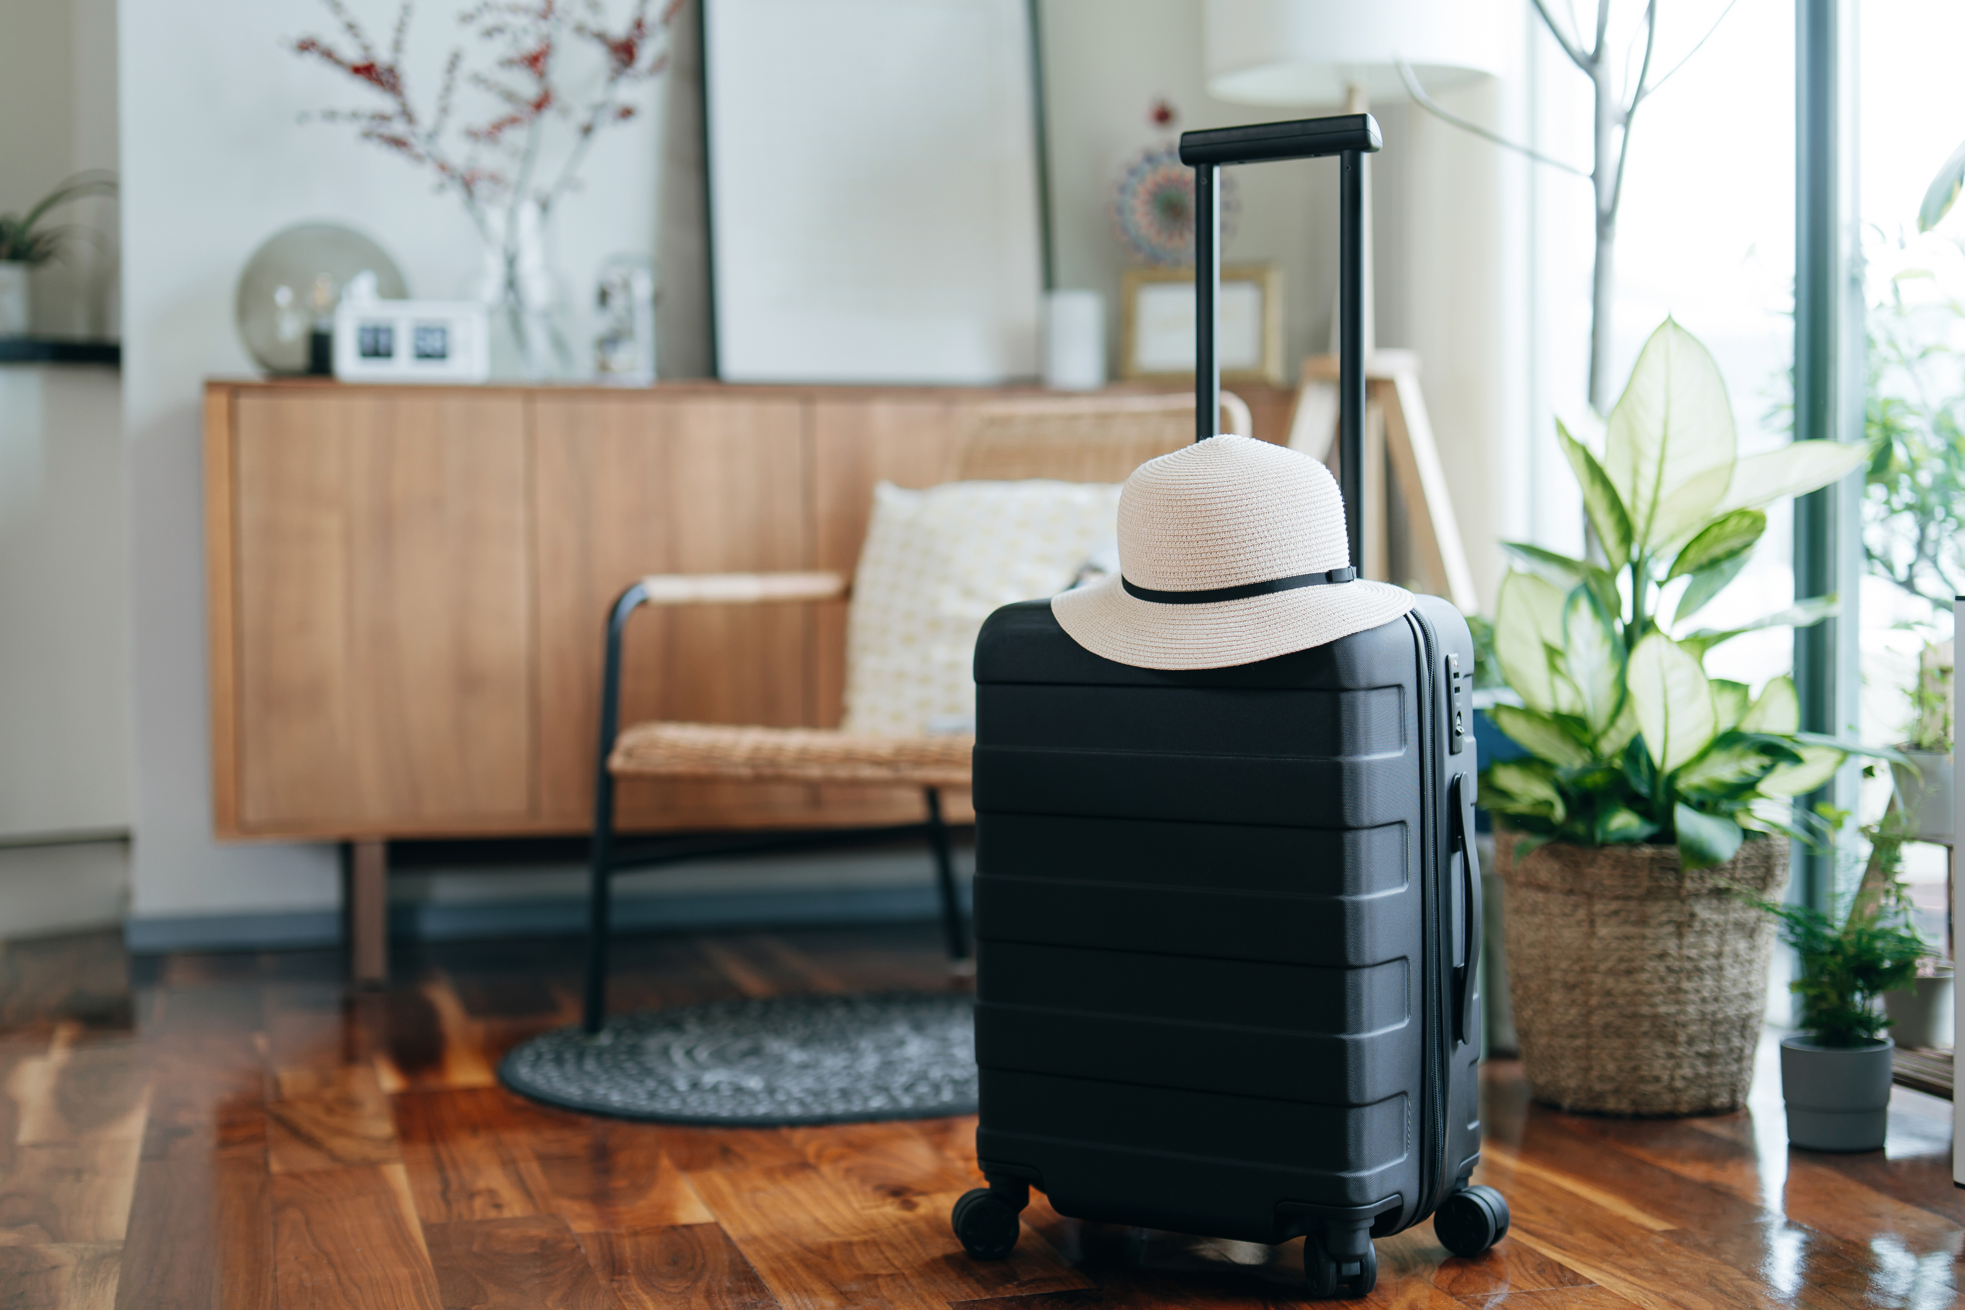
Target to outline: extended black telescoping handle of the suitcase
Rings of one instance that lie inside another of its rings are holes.
[[[1364,560],[1364,155],[1383,137],[1370,114],[1181,134],[1181,163],[1195,171],[1195,440],[1216,434],[1222,369],[1214,320],[1222,283],[1220,169],[1226,163],[1338,155],[1338,489],[1352,564]]]

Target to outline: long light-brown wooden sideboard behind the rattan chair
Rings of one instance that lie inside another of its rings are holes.
[[[1281,440],[1291,393],[1236,391]],[[586,833],[621,589],[658,572],[851,573],[872,485],[943,481],[965,412],[1004,395],[210,383],[216,835]],[[845,603],[643,613],[625,660],[625,723],[829,727]],[[908,823],[920,803],[621,788],[639,831]]]

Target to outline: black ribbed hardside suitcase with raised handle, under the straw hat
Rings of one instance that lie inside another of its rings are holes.
[[[1377,149],[1368,116],[1181,137],[1218,277],[1220,163]],[[1344,196],[1344,491],[1362,416],[1358,204]],[[1199,312],[1199,436],[1216,412]],[[1352,558],[1358,532],[1352,513]],[[1279,1243],[1366,1294],[1370,1237],[1507,1229],[1480,1155],[1474,644],[1421,597],[1377,628],[1236,668],[1079,646],[1047,601],[977,642],[977,1257],[1030,1188],[1065,1216]]]

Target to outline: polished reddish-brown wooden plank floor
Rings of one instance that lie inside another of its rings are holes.
[[[633,939],[615,996],[933,986],[931,929]],[[328,953],[128,960],[114,937],[0,947],[0,1306],[1299,1304],[1301,1243],[1081,1224],[1038,1200],[1014,1259],[969,1261],[949,1204],[973,1119],[711,1131],[586,1119],[495,1086],[574,1008],[566,943],[399,955],[350,996]],[[1751,1112],[1613,1121],[1488,1066],[1486,1182],[1507,1241],[1377,1243],[1364,1304],[1949,1306],[1965,1192],[1949,1106],[1900,1092],[1886,1151],[1788,1151]]]

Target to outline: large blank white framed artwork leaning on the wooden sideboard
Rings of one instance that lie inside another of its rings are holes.
[[[717,375],[1038,373],[1026,0],[703,0]]]

